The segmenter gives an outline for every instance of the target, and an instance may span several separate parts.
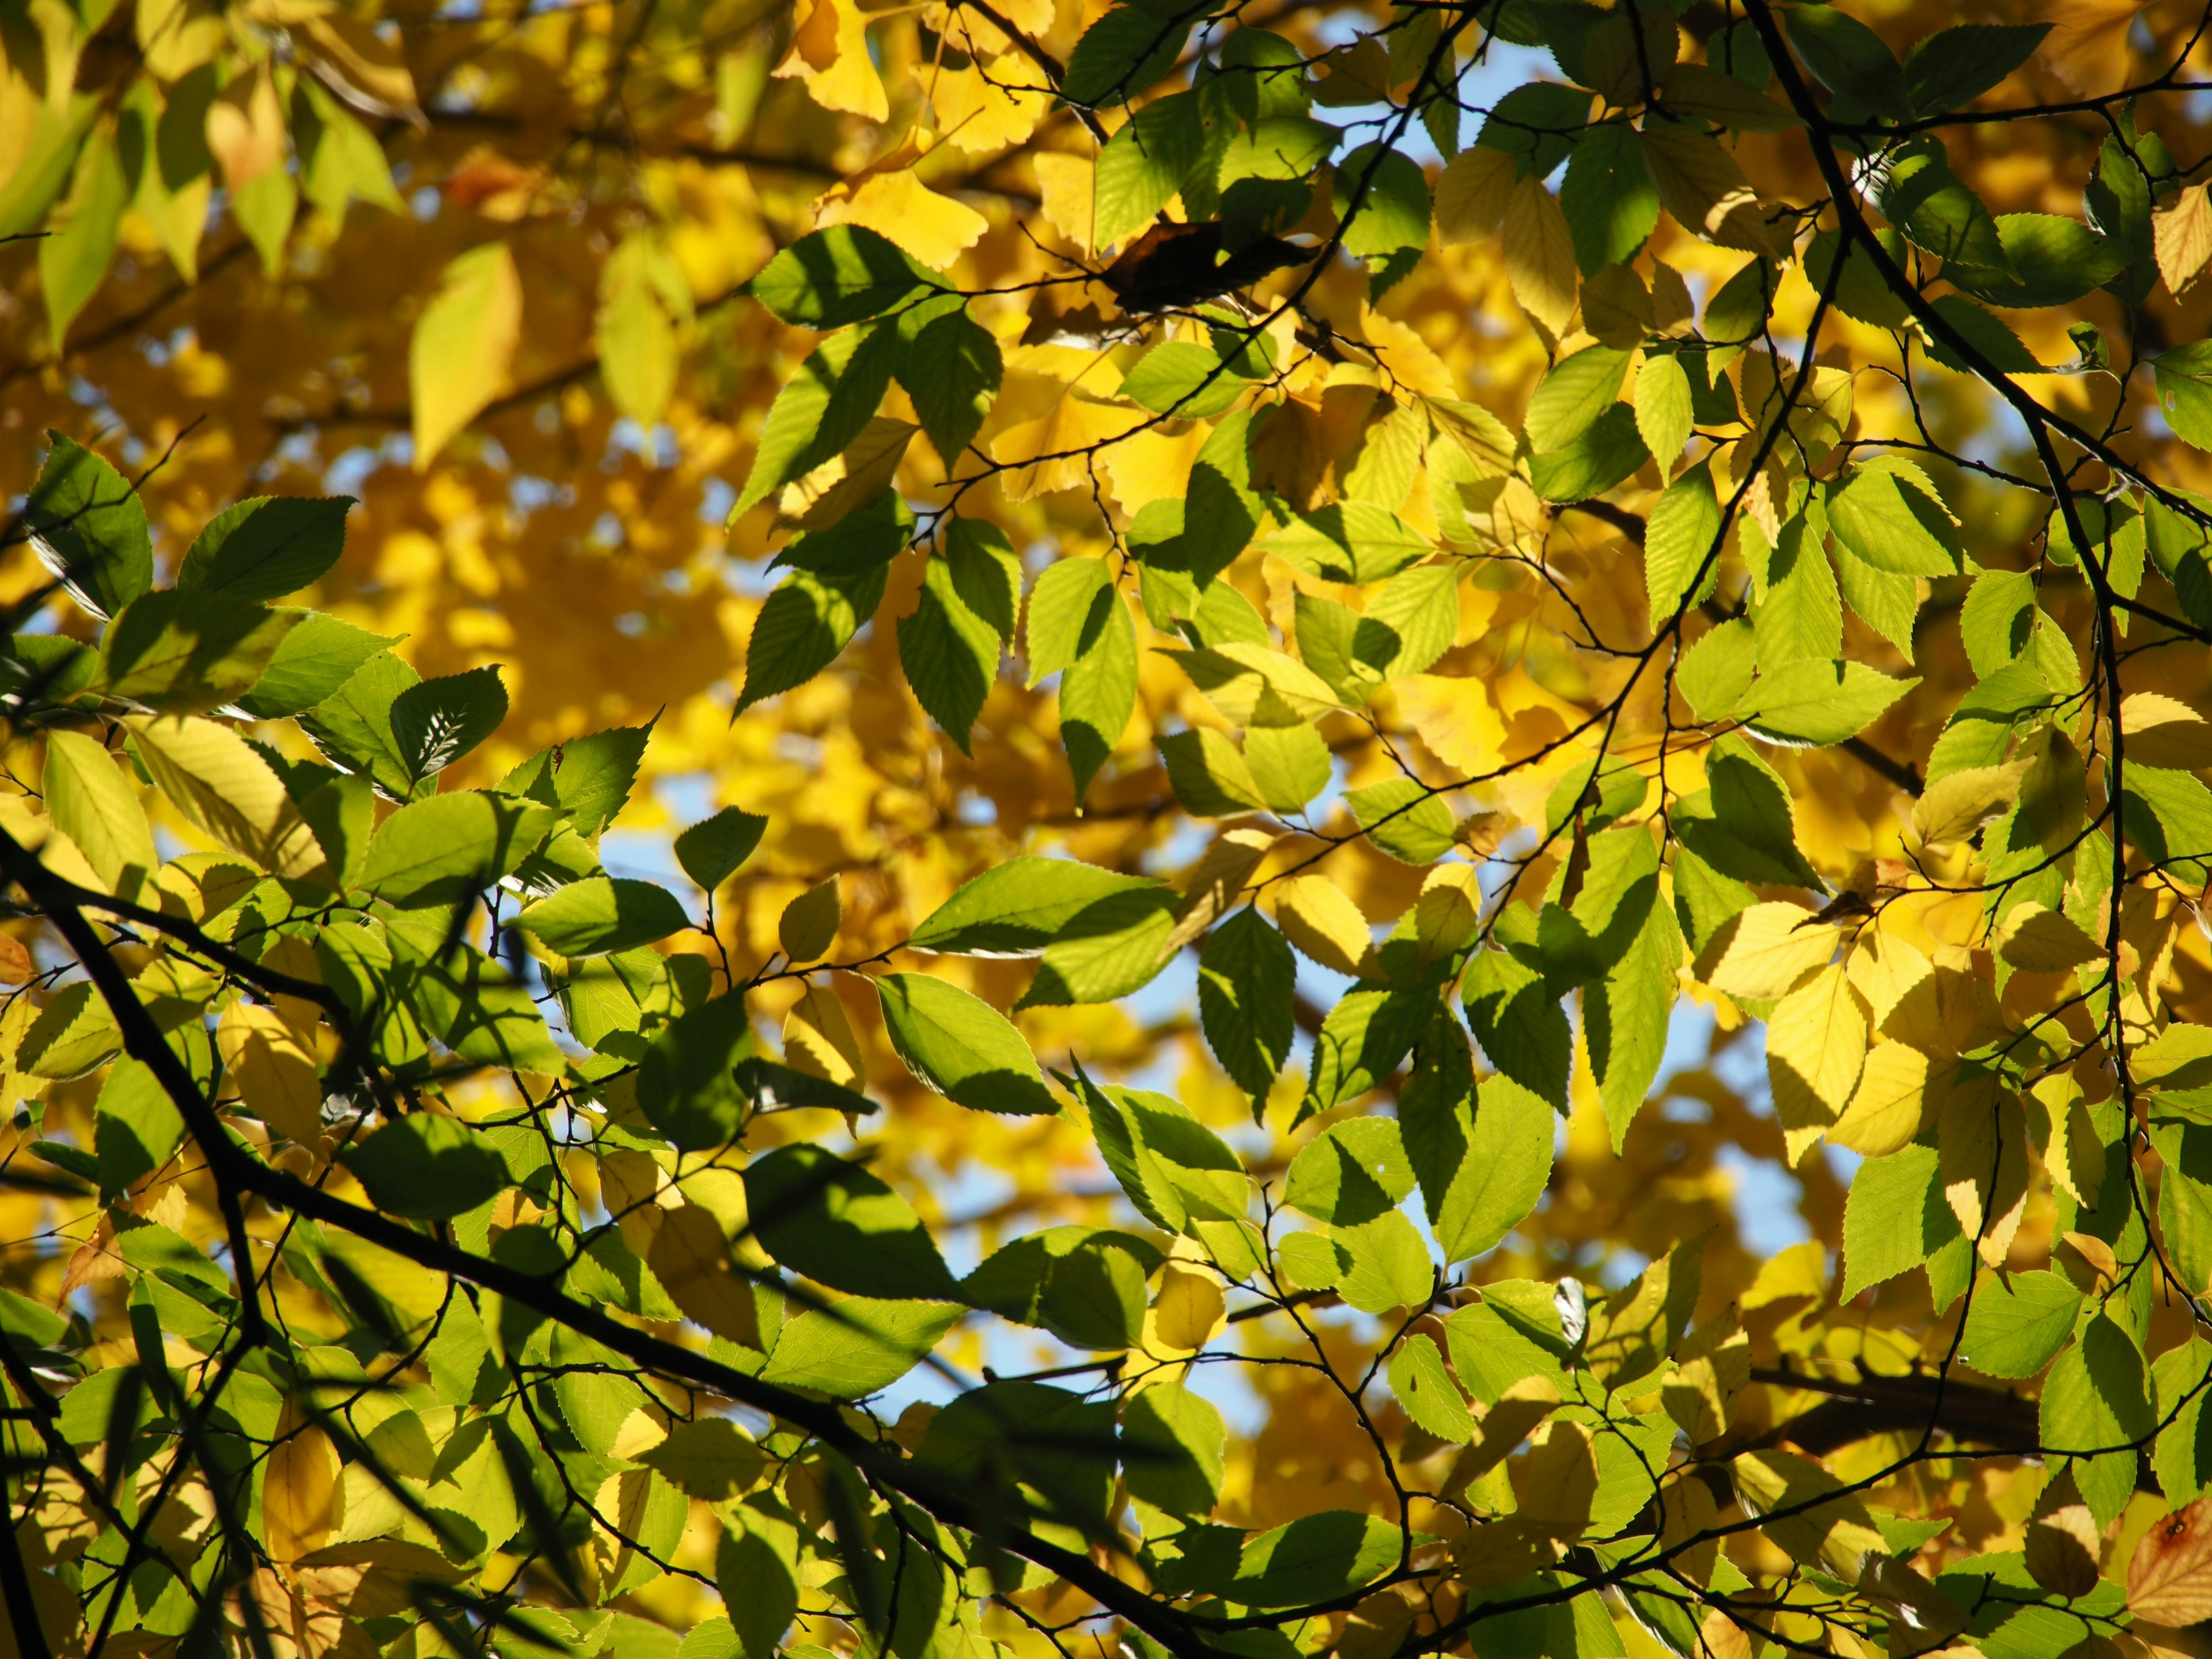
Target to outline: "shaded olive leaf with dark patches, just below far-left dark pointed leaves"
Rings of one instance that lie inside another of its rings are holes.
[[[126,604],[100,637],[91,690],[164,714],[199,714],[268,670],[299,613],[206,588],[164,588]]]

